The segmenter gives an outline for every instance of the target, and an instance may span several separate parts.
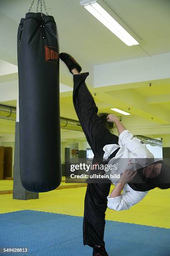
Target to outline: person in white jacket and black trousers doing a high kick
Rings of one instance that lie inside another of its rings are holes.
[[[85,79],[89,75],[89,72],[80,74],[82,68],[77,61],[70,56],[70,54],[60,53],[60,59],[65,62],[69,71],[73,74],[73,104],[77,117],[82,126],[82,130],[85,133],[87,142],[89,143],[94,154],[92,164],[97,163],[98,159],[114,159],[115,157],[123,157],[123,155],[124,157],[128,158],[129,155],[127,156],[127,148],[130,143],[131,148],[134,149],[134,146],[136,148],[136,151],[133,152],[131,152],[132,150],[129,150],[130,154],[136,154],[137,157],[138,154],[140,154],[141,156],[139,157],[141,158],[153,159],[153,154],[151,154],[146,146],[140,143],[139,140],[138,143],[136,142],[136,138],[134,138],[133,135],[126,130],[115,115],[108,115],[107,121],[115,122],[119,137],[110,133],[100,117],[97,115],[98,108],[85,84]],[[124,146],[122,143],[125,143],[126,146]],[[137,146],[136,143],[138,144]],[[146,169],[145,172],[148,174],[150,169]],[[158,172],[160,172],[159,168]],[[109,195],[109,192],[112,182],[109,179],[107,182],[105,181],[103,183],[87,183],[83,218],[83,244],[93,248],[93,256],[108,256],[105,250],[105,242],[103,240],[107,199],[108,207],[110,205],[111,209],[125,210],[125,208],[127,208],[125,206],[126,203],[122,206],[122,201],[124,199],[128,200],[129,197],[125,197],[122,200],[120,198],[120,193],[125,184],[126,187],[129,186],[127,183],[130,182],[134,177],[135,173],[131,170],[124,172],[121,176],[121,183],[116,185],[115,190],[112,191],[111,195]],[[130,186],[128,189],[129,188]],[[139,191],[138,187],[137,189],[135,189],[135,187],[131,189],[133,189],[136,193],[139,192],[138,195],[140,194],[140,196],[138,198],[138,202],[147,193],[145,192],[146,189],[143,190],[143,188]],[[124,194],[126,194],[126,191],[124,192]],[[119,200],[117,200],[117,198],[119,198]],[[128,208],[132,205],[133,204],[131,201]]]

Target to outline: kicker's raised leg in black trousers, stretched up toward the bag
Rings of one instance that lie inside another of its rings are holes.
[[[102,157],[104,153],[102,148],[107,144],[117,144],[118,137],[110,133],[97,115],[98,108],[85,84],[85,79],[88,74],[89,73],[86,72],[73,76],[73,103],[82,129],[94,155]]]

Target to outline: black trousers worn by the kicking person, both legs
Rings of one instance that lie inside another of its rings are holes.
[[[88,72],[74,75],[73,103],[77,117],[85,133],[87,141],[93,151],[94,158],[103,159],[103,147],[107,144],[118,144],[118,137],[110,133],[100,117],[98,108],[87,89],[85,79]],[[83,219],[83,243],[84,245],[105,246],[105,211],[107,209],[107,195],[109,195],[111,182],[88,183],[85,195],[84,219]]]

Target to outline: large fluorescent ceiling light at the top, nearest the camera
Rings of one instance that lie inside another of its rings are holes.
[[[83,0],[80,1],[80,4],[126,45],[133,46],[139,44],[138,41],[136,41],[135,38],[133,38],[133,36],[131,36],[130,33],[128,33],[114,18],[112,18],[112,16],[97,2]]]

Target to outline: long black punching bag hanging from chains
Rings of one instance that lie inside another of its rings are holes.
[[[61,182],[59,42],[55,20],[26,13],[18,28],[20,177],[32,192]]]

